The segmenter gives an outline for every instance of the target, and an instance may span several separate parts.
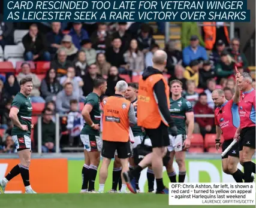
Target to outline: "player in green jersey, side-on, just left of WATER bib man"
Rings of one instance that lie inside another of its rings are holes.
[[[85,99],[82,115],[86,121],[80,137],[85,146],[85,164],[82,169],[81,192],[96,192],[94,189],[95,178],[100,164],[102,141],[100,138],[100,96],[107,90],[104,78],[94,79],[94,90]]]

